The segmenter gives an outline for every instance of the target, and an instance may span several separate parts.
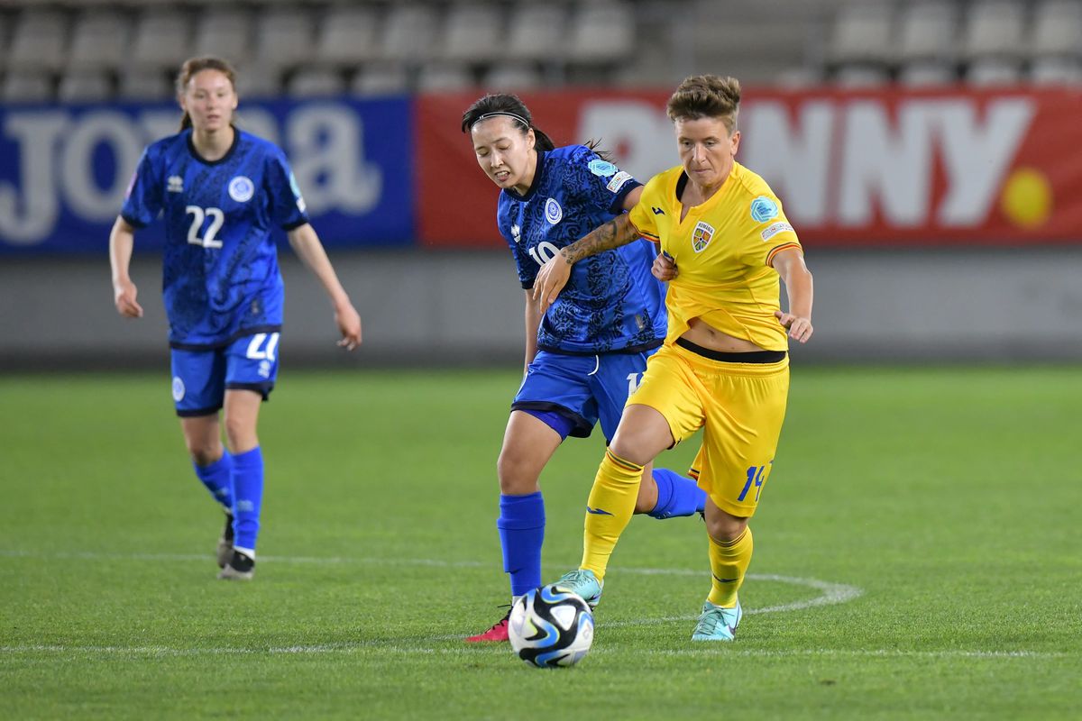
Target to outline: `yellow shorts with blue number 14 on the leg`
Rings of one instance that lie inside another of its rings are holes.
[[[677,443],[703,428],[691,477],[718,508],[750,517],[770,475],[788,398],[788,355],[734,363],[665,345],[647,361],[628,404],[661,413]]]

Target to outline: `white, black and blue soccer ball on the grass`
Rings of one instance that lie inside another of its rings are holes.
[[[507,637],[515,655],[529,666],[573,666],[594,641],[594,614],[581,596],[550,584],[515,602]]]

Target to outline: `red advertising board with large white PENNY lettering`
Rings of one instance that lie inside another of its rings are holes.
[[[462,111],[417,101],[418,229],[426,246],[499,246],[498,189]],[[678,163],[665,92],[523,94],[557,145],[599,139],[641,181]],[[781,198],[806,244],[1082,242],[1082,93],[1008,89],[745,89],[737,159]]]

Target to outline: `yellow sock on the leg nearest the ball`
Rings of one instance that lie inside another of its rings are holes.
[[[605,577],[609,556],[635,512],[643,466],[624,460],[605,449],[594,486],[586,502],[586,523],[582,538],[582,563],[579,568]]]

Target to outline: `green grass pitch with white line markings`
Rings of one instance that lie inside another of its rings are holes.
[[[0,378],[0,718],[1082,717],[1079,369],[797,365],[737,641],[689,641],[701,521],[637,517],[593,651],[544,671],[461,641],[507,596],[517,383],[286,369],[240,585],[214,579],[164,373]],[[542,478],[547,577],[579,560],[602,442]]]

